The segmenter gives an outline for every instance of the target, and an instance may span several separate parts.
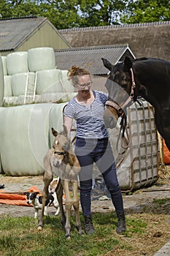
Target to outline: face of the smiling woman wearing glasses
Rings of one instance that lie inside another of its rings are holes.
[[[90,75],[79,75],[78,82],[74,84],[74,87],[77,88],[79,93],[87,94],[90,91],[91,85]]]

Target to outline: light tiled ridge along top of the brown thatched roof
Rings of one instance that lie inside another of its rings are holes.
[[[109,25],[109,26],[89,26],[85,28],[72,28],[72,29],[58,29],[59,32],[65,31],[85,31],[85,30],[96,30],[96,29],[117,29],[117,28],[124,28],[124,27],[136,27],[136,26],[155,26],[155,25],[167,25],[170,24],[170,20],[167,21],[155,21],[155,22],[148,22],[148,23],[132,23],[132,24],[121,24],[121,25]]]

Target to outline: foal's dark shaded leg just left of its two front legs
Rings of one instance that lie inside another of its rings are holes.
[[[59,178],[58,180],[58,185],[57,185],[57,188],[55,189],[55,192],[57,194],[58,204],[59,204],[60,213],[61,213],[61,224],[65,229],[66,217],[63,211],[63,184],[61,184],[61,178]]]

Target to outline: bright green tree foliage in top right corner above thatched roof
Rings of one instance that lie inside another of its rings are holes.
[[[128,24],[170,20],[170,1],[130,0],[120,15],[120,20]]]

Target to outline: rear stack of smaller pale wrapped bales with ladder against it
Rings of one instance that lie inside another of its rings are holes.
[[[55,68],[53,48],[32,48],[28,52],[2,57],[4,70],[4,105],[69,100],[74,88],[67,80],[67,70]],[[26,83],[29,95],[25,99]],[[35,89],[35,91],[34,91]]]

